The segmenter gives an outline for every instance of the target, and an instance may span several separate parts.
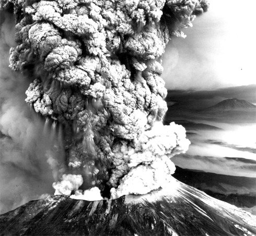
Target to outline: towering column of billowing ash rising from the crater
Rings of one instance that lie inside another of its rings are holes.
[[[175,169],[170,157],[189,141],[183,127],[161,123],[162,54],[207,2],[5,0],[2,7],[13,7],[17,19],[10,68],[34,79],[26,102],[64,127],[73,177],[112,197],[164,185]],[[69,177],[54,184],[57,193],[79,188],[57,190]]]

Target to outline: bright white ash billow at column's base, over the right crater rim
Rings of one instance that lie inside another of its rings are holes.
[[[145,194],[164,187],[171,179],[175,166],[170,158],[185,153],[190,141],[186,139],[185,129],[174,122],[169,126],[156,122],[152,129],[145,131],[135,144],[135,148],[123,143],[115,151],[113,171],[110,182],[111,197],[127,194]],[[118,180],[127,173],[119,182]]]

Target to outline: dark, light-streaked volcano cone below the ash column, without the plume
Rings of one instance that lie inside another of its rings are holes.
[[[1,215],[1,235],[251,235],[256,217],[172,178],[145,195],[88,202],[63,195]]]

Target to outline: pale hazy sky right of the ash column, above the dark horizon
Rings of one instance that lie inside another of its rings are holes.
[[[172,39],[164,56],[168,89],[256,84],[255,0],[209,0],[187,38]]]

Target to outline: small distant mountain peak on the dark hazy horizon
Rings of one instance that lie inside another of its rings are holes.
[[[239,100],[238,98],[228,98],[222,102],[217,103],[214,106],[208,107],[210,110],[237,110],[237,109],[249,109],[256,108],[252,103],[247,102],[246,100]]]

